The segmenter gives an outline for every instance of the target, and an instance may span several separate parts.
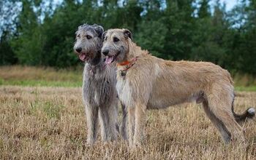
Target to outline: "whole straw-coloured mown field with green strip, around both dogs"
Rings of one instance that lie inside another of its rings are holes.
[[[146,145],[138,150],[121,138],[86,145],[81,73],[0,68],[0,159],[256,159],[255,119],[243,125],[245,144],[225,145],[195,103],[148,111]],[[237,91],[236,112],[249,106],[256,92]]]

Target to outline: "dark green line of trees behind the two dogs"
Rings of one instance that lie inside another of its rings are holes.
[[[255,0],[240,0],[228,12],[218,0],[64,0],[55,7],[47,0],[3,0],[0,9],[7,10],[0,12],[7,17],[0,65],[78,65],[75,31],[97,23],[105,30],[129,28],[134,41],[157,57],[256,75]]]

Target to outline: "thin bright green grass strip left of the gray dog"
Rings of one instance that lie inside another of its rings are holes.
[[[26,87],[81,87],[82,81],[0,79],[0,85],[26,86]]]

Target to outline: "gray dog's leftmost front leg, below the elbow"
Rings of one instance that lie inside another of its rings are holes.
[[[87,120],[87,143],[93,144],[97,138],[97,120],[98,120],[98,107],[86,105],[86,120]]]

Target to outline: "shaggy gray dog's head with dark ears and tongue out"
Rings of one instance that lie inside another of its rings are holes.
[[[74,51],[78,54],[80,60],[88,61],[97,56],[97,52],[102,47],[102,33],[104,29],[100,25],[83,24],[75,32]]]

